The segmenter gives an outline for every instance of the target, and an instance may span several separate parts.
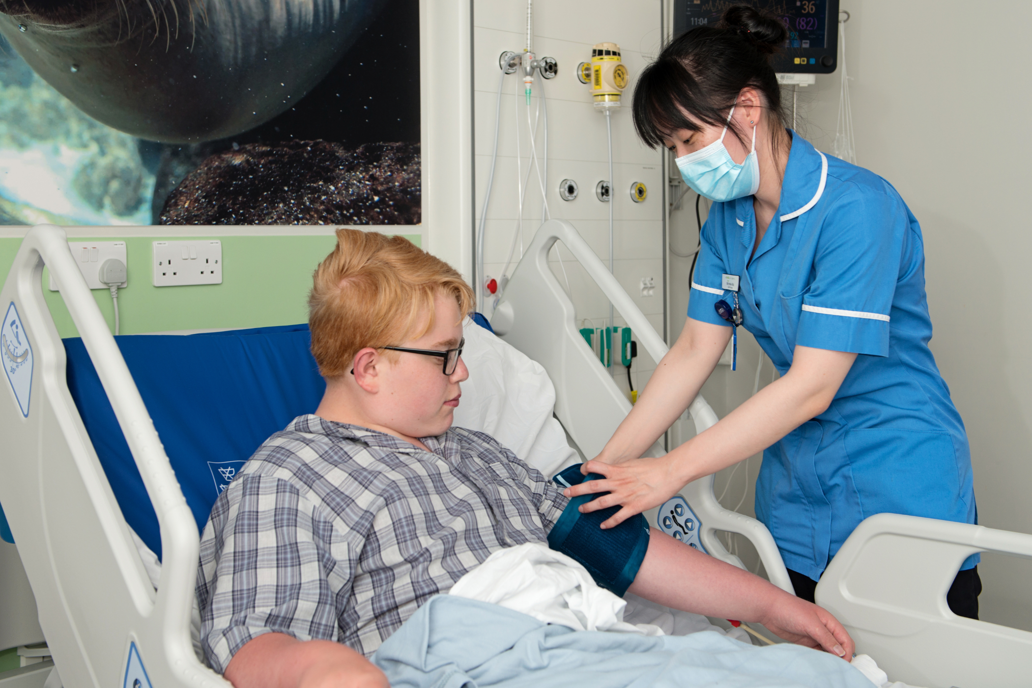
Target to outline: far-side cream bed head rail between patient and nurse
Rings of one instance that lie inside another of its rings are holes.
[[[631,402],[577,330],[574,304],[548,267],[548,253],[556,241],[562,241],[599,285],[653,360],[658,363],[668,347],[573,225],[565,220],[549,220],[541,226],[502,294],[491,316],[491,327],[545,367],[555,384],[555,415],[584,456],[590,458],[602,451],[631,413]],[[717,422],[716,414],[701,395],[688,406],[688,413],[697,433]],[[658,443],[650,451],[652,456],[663,453]],[[699,535],[710,554],[744,568],[742,561],[717,538],[719,530],[741,533],[756,548],[770,581],[794,592],[770,531],[755,519],[723,509],[713,495],[713,476],[689,483],[682,494],[702,521]]]

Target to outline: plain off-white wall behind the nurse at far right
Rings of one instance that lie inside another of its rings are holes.
[[[922,224],[931,347],[967,426],[979,523],[1032,532],[1032,319],[1024,283],[1032,250],[1032,3],[1002,0],[976,13],[960,0],[842,0],[842,8],[851,13],[858,162],[891,182]],[[825,152],[839,84],[837,72],[799,90],[799,129]],[[672,219],[671,229],[679,251],[695,241],[694,217]],[[672,260],[674,274],[679,259]],[[730,393],[718,413],[751,392],[744,372],[744,392],[741,379],[732,390],[723,373]],[[704,389],[707,398],[719,396],[707,391],[719,383]],[[1030,562],[986,555],[978,570],[982,618],[1032,630]]]

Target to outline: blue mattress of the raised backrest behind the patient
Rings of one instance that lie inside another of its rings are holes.
[[[204,528],[219,493],[326,389],[308,325],[115,337],[183,494]],[[158,518],[83,340],[64,340],[68,389],[126,521],[161,557]]]

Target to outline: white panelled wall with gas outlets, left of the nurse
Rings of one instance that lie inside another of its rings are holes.
[[[474,122],[476,160],[476,214],[480,219],[487,176],[491,162],[494,135],[495,98],[498,85],[498,56],[504,51],[521,53],[525,45],[526,4],[522,1],[502,3],[497,0],[474,0]],[[609,260],[609,207],[594,195],[595,184],[609,178],[606,143],[606,118],[591,104],[587,86],[576,76],[580,62],[589,61],[591,46],[602,41],[618,43],[622,62],[631,73],[631,84],[624,92],[624,104],[630,105],[635,78],[660,44],[659,0],[638,1],[635,11],[627,3],[601,0],[585,5],[579,2],[535,3],[534,51],[539,57],[558,61],[558,75],[544,85],[548,106],[548,179],[545,186],[551,217],[569,220],[584,236],[603,261]],[[538,78],[531,111],[538,107],[541,92]],[[518,217],[516,173],[516,121],[519,109],[519,136],[522,170],[526,174],[530,157],[527,111],[523,85],[519,74],[506,77],[502,97],[498,160],[494,174],[491,203],[487,211],[484,241],[485,271],[498,279],[505,267]],[[612,114],[614,167],[614,273],[624,289],[636,298],[656,330],[663,333],[663,155],[644,146],[634,133],[630,106]],[[539,163],[544,146],[544,121],[539,125],[536,146]],[[574,201],[559,198],[559,182],[573,178],[580,186]],[[633,182],[648,187],[643,203],[631,200]],[[542,197],[538,177],[531,173],[526,195],[523,230],[525,247],[540,226]],[[513,267],[520,256],[517,243]],[[555,252],[552,254],[555,257]],[[577,317],[590,318],[595,326],[604,327],[609,302],[586,274],[566,256],[566,276],[556,263],[553,267],[560,284],[569,277]],[[510,274],[512,267],[510,267]],[[641,277],[654,277],[657,289],[652,297],[642,297]],[[621,325],[617,318],[615,323]],[[644,386],[654,369],[644,349],[633,366],[638,389]],[[617,361],[618,364],[618,361]],[[614,378],[626,389],[626,373],[617,367]]]

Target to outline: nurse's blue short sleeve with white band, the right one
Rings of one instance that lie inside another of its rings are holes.
[[[890,188],[854,186],[840,197],[820,229],[797,345],[889,355],[890,315],[909,217]],[[921,251],[915,255],[920,259]]]

